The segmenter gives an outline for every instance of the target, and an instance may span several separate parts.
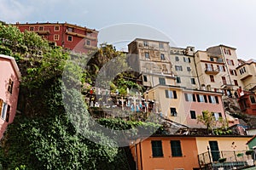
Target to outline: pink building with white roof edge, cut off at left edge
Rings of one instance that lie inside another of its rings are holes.
[[[20,71],[13,57],[0,54],[0,139],[14,121],[18,102]]]

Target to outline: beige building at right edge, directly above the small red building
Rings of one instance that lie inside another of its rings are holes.
[[[244,90],[256,92],[256,60],[242,61],[236,67],[238,78],[241,80]]]

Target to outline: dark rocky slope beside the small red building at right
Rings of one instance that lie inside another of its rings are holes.
[[[223,98],[224,111],[231,116],[239,118],[242,125],[256,127],[256,116],[244,114],[238,105],[236,98]]]

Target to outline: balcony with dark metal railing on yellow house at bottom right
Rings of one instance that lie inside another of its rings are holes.
[[[254,167],[253,153],[247,150],[207,151],[198,155],[201,169],[241,169]]]

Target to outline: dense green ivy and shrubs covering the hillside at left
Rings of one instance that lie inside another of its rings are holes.
[[[132,169],[125,160],[124,148],[118,148],[114,142],[108,146],[95,144],[79,133],[79,128],[86,129],[89,123],[84,122],[88,120],[84,114],[86,105],[79,99],[80,92],[71,88],[73,83],[82,87],[84,84],[93,86],[102,65],[116,56],[121,56],[117,61],[119,68],[127,66],[121,65],[123,55],[116,52],[113,46],[102,45],[89,61],[90,71],[84,71],[72,63],[66,65],[79,80],[71,77],[65,84],[68,87],[67,96],[78,96],[70,98],[70,102],[76,105],[66,108],[66,111],[61,94],[61,76],[67,59],[80,59],[79,56],[70,56],[61,48],[51,47],[49,42],[33,32],[21,33],[13,26],[1,24],[0,54],[14,56],[22,75],[18,105],[21,113],[9,125],[1,141],[0,161],[3,169]],[[125,79],[108,83],[113,83],[113,87],[123,95],[124,89],[137,86]],[[68,114],[74,115],[77,125],[73,125],[74,120]],[[116,119],[99,119],[98,122],[112,129],[158,126]],[[108,140],[103,133],[85,131],[95,138]]]

